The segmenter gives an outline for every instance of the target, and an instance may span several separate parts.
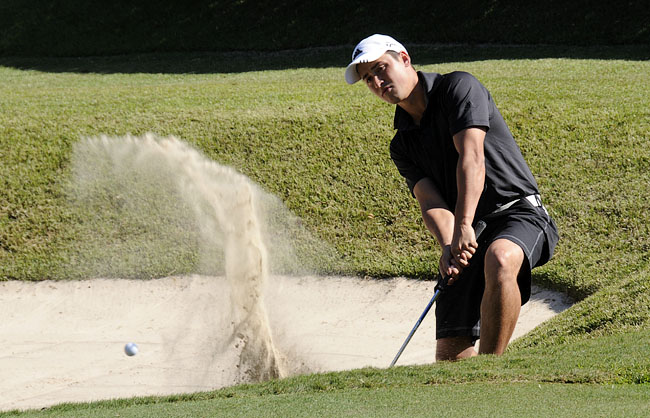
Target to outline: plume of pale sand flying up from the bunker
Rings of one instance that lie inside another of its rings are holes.
[[[94,274],[141,277],[149,266],[147,274],[155,276],[159,265],[178,260],[225,274],[231,335],[222,347],[241,350],[238,380],[286,375],[263,303],[270,265],[265,239],[273,236],[284,257],[278,268],[292,264],[289,241],[296,239],[295,230],[279,238],[291,221],[278,214],[277,199],[174,137],[88,138],[75,146],[73,170],[74,198],[94,216],[87,235],[97,241],[95,255],[85,258],[94,260]]]

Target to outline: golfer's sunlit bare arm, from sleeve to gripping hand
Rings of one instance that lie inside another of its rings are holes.
[[[454,209],[451,253],[463,267],[468,265],[469,259],[478,247],[472,222],[485,187],[484,141],[485,130],[482,128],[463,129],[454,135],[454,146],[458,151],[456,166],[458,198]]]

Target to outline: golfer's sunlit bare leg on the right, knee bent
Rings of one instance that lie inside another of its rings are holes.
[[[485,254],[485,292],[481,301],[481,354],[502,354],[519,318],[517,276],[524,252],[507,239],[494,241]]]

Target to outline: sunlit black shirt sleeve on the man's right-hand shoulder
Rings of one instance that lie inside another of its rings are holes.
[[[449,122],[449,134],[463,129],[490,129],[490,93],[471,74],[457,71],[445,76],[442,104]]]

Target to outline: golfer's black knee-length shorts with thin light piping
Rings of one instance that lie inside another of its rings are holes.
[[[525,199],[503,212],[485,216],[486,228],[477,240],[478,249],[459,279],[436,301],[436,338],[480,336],[481,299],[485,289],[484,259],[487,248],[497,239],[508,239],[521,247],[525,261],[517,282],[521,304],[530,298],[531,270],[553,255],[559,236],[553,219],[543,206]]]

